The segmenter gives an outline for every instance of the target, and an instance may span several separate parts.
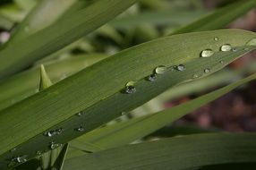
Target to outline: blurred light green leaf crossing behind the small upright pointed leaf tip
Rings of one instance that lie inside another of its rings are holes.
[[[75,55],[71,58],[48,61],[44,64],[50,79],[53,82],[57,82],[104,58],[107,58],[107,55]],[[38,92],[39,72],[38,67],[34,67],[0,82],[0,110]]]

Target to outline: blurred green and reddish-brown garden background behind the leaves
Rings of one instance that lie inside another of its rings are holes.
[[[19,23],[38,2],[39,0],[0,1],[0,49],[8,43]],[[3,98],[0,97],[0,108],[11,106],[38,91],[39,74],[35,72],[38,64],[46,65],[47,72],[54,82],[61,81],[74,72],[78,72],[109,55],[115,55],[125,48],[136,46],[154,38],[164,37],[174,30],[233,2],[235,0],[141,0],[139,4],[133,5],[125,13],[89,36],[81,38],[53,55],[46,56],[24,72],[8,79],[7,82],[0,82],[0,87],[10,86],[12,83],[15,84],[14,81],[19,81],[20,77],[27,76],[24,88],[19,92],[13,92],[13,96],[4,98],[4,92],[1,92]],[[256,31],[256,9],[233,21],[226,28]],[[169,89],[158,98],[152,99],[144,106],[111,123],[177,106],[253,72],[256,72],[255,52],[243,56],[233,64],[228,65],[226,69],[207,78],[183,83]],[[226,96],[207,106],[202,106],[192,114],[184,116],[152,135],[165,136],[167,134],[171,136],[204,131],[256,131],[255,89],[255,81],[240,89],[235,89]]]

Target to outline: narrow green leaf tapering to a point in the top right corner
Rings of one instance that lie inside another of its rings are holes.
[[[182,34],[192,31],[223,29],[228,23],[247,13],[256,6],[255,0],[238,0],[233,4],[226,5],[198,21],[194,21],[181,29],[175,30],[172,34]]]

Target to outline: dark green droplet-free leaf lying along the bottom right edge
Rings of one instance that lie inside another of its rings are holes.
[[[75,157],[64,163],[64,170],[177,170],[251,163],[256,161],[255,140],[255,133],[188,135]]]

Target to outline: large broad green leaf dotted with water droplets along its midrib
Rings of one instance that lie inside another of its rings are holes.
[[[214,40],[215,37],[219,40]],[[4,168],[10,157],[25,154],[29,158],[37,150],[48,150],[52,139],[44,132],[63,128],[64,132],[55,136],[55,142],[66,143],[122,112],[141,106],[170,87],[195,79],[195,74],[201,78],[217,72],[253,50],[255,46],[245,44],[254,37],[255,33],[250,31],[218,30],[159,38],[108,57],[2,110],[0,167]],[[219,51],[226,43],[235,50]],[[208,48],[215,55],[200,57],[201,51]],[[156,81],[146,81],[162,64],[166,65],[166,72],[157,75]],[[183,66],[177,67],[179,64]],[[136,81],[135,93],[124,93],[127,81]],[[16,125],[10,128],[10,124]],[[15,147],[15,152],[9,152]]]

